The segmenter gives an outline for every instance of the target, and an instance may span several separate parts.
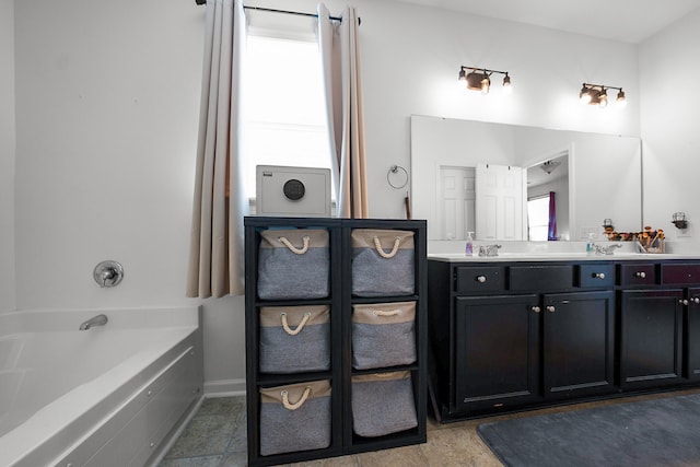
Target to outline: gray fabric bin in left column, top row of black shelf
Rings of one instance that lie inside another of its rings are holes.
[[[261,300],[325,299],[330,285],[327,230],[260,232],[258,296]]]

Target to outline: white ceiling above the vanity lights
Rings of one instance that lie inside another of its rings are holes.
[[[639,44],[700,8],[700,0],[397,0]]]

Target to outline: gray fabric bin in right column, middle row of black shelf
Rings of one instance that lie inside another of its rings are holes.
[[[416,302],[352,306],[352,366],[358,370],[416,362]]]

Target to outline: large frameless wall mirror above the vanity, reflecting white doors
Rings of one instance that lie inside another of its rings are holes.
[[[527,200],[549,194],[557,215],[549,240],[586,240],[603,232],[604,220],[619,232],[639,231],[641,164],[639,138],[411,116],[412,215],[428,220],[428,240],[464,240],[467,232],[528,240]],[[513,197],[485,196],[497,183]],[[505,229],[494,226],[503,221]]]

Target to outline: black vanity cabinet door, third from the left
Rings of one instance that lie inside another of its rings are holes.
[[[637,389],[678,383],[682,290],[623,291],[620,295],[620,385]]]

